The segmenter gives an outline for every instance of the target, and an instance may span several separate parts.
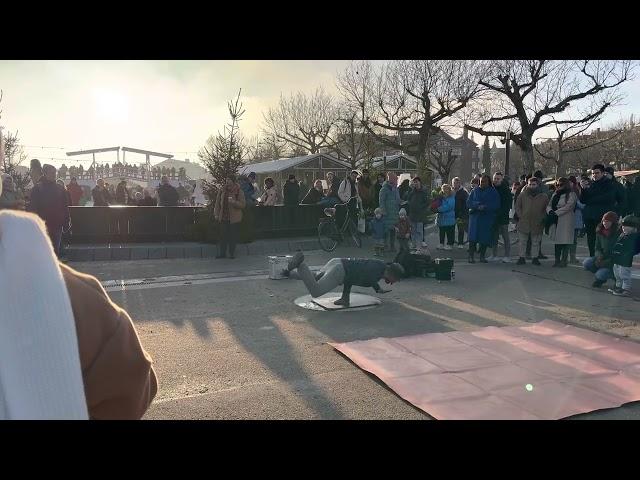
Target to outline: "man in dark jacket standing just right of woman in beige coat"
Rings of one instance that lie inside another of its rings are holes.
[[[596,225],[600,223],[602,216],[610,211],[615,211],[616,192],[611,180],[604,174],[604,165],[598,163],[591,169],[592,183],[584,183],[582,198],[580,201],[585,207],[582,212],[584,228],[587,232],[587,245],[589,256],[595,255]]]

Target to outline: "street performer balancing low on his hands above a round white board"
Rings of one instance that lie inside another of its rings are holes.
[[[404,276],[404,268],[398,263],[385,263],[375,259],[332,258],[314,275],[304,263],[304,254],[296,252],[282,274],[302,280],[313,298],[343,285],[342,298],[333,303],[348,307],[351,303],[349,296],[353,285],[372,287],[376,293],[387,293],[391,290],[384,290],[378,282],[383,278],[387,284],[399,281]]]

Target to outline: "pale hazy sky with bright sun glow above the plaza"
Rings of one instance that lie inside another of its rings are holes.
[[[111,146],[195,161],[198,149],[226,123],[227,102],[240,88],[246,109],[241,129],[252,136],[260,131],[263,112],[277,103],[281,93],[312,92],[318,86],[335,92],[335,75],[348,63],[0,61],[4,92],[0,125],[18,130],[29,158],[57,166],[66,151]],[[624,105],[609,112],[599,126],[632,113],[639,116],[640,78],[627,83],[624,91]],[[475,140],[481,144],[483,138],[475,135]],[[128,161],[143,160],[129,155]],[[115,152],[99,154],[98,159],[113,163]]]

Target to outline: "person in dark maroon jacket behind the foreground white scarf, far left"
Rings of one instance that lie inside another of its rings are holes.
[[[69,200],[65,190],[56,183],[56,169],[45,164],[44,176],[33,187],[29,210],[44,220],[56,255],[60,255],[63,227],[69,227]]]

